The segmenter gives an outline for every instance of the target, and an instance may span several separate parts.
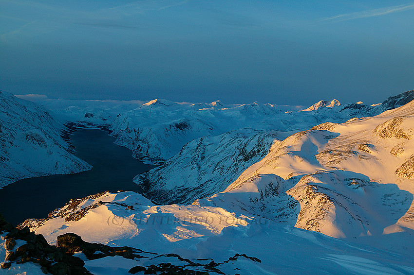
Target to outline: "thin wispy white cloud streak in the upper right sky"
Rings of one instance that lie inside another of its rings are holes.
[[[352,19],[358,19],[358,18],[376,17],[376,16],[403,12],[403,11],[412,10],[412,9],[414,9],[414,3],[373,9],[373,10],[366,10],[366,11],[361,11],[361,12],[356,12],[356,13],[341,14],[341,15],[337,15],[334,17],[323,18],[320,21],[332,21],[332,20],[345,21],[345,20],[352,20]]]

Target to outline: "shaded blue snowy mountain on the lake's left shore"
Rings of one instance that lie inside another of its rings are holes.
[[[91,166],[75,157],[60,120],[46,108],[0,91],[0,188],[22,178],[76,173]]]

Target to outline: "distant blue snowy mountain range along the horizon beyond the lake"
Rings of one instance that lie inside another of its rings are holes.
[[[407,103],[412,94],[414,91],[405,92],[376,106],[321,101],[314,104],[318,108],[307,112],[285,112],[269,103],[176,103],[164,99],[147,103],[45,99],[42,103],[65,120],[86,126],[110,126],[116,143],[130,148],[134,157],[150,164],[163,164],[196,138],[246,127],[265,131],[306,130],[327,121],[338,123],[377,115],[384,111],[384,106],[394,106],[393,102]]]

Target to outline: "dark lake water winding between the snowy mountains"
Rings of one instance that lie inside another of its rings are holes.
[[[101,191],[142,189],[132,182],[137,174],[154,168],[132,157],[128,148],[115,145],[114,137],[99,129],[77,129],[71,136],[76,156],[92,170],[69,175],[22,179],[0,189],[0,213],[18,225],[28,218],[46,218],[69,200]]]

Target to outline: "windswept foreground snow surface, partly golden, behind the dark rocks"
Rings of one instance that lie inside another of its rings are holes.
[[[357,246],[221,207],[155,206],[134,192],[107,192],[76,203],[57,210],[52,218],[26,224],[52,244],[58,235],[73,232],[85,241],[174,253],[193,262],[223,263],[236,253],[260,260],[239,258],[218,266],[225,274],[411,274],[414,270],[412,255]],[[76,215],[82,212],[82,217]],[[133,266],[166,261],[188,264],[149,255],[134,260],[101,258],[86,261],[85,267],[95,275],[127,274]]]

